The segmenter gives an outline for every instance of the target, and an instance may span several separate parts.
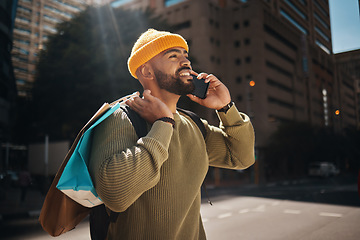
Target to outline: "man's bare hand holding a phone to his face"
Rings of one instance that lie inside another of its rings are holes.
[[[194,78],[195,91],[193,94],[187,95],[192,101],[216,110],[223,108],[231,102],[228,88],[213,74],[198,74],[194,71],[191,71],[191,74],[196,76],[196,78]],[[196,88],[198,88],[198,90],[196,90]],[[198,92],[203,93],[204,89],[206,89],[206,95],[198,94]],[[195,96],[195,93],[199,96]]]

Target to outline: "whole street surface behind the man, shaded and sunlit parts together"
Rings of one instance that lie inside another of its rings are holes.
[[[209,240],[360,239],[360,200],[353,180],[310,179],[222,189],[210,186],[208,192],[213,205],[204,197],[201,206],[207,237]],[[54,239],[42,231],[36,218],[5,224],[1,239]],[[56,239],[90,239],[87,220]]]

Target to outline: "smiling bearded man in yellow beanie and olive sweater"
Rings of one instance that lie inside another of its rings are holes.
[[[106,207],[120,212],[108,239],[206,239],[200,187],[209,165],[244,169],[254,163],[254,131],[226,86],[214,75],[197,74],[180,35],[149,29],[135,43],[128,67],[144,87],[126,102],[148,123],[137,138],[121,109],[94,133],[90,173]],[[191,95],[193,78],[210,82],[205,99]],[[176,110],[181,95],[211,109],[220,127],[197,125]]]

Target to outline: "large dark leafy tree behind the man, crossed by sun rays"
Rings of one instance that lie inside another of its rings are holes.
[[[168,30],[150,11],[88,8],[58,25],[37,65],[32,126],[35,139],[73,139],[104,103],[141,85],[127,69],[132,45],[148,28]]]

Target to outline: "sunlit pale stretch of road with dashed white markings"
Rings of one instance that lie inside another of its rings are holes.
[[[359,239],[360,208],[257,197],[203,205],[209,240]]]

